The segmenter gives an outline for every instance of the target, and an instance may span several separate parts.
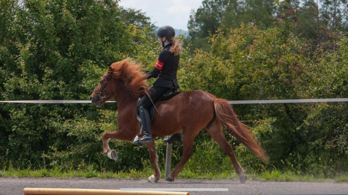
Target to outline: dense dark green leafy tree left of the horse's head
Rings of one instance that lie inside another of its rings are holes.
[[[116,1],[0,2],[1,100],[88,99],[112,62],[136,52],[136,27],[123,22]],[[87,134],[100,140],[103,130],[96,125],[69,134],[65,126],[75,118],[76,123],[98,124],[97,110],[90,105],[0,104],[0,154],[8,159],[0,166],[40,167],[43,154],[76,147],[78,140],[89,141],[79,154],[79,163],[88,162],[101,145]]]

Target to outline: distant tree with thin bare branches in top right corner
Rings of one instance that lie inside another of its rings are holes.
[[[313,52],[318,47],[335,49],[337,35],[347,32],[347,0],[305,0],[294,9],[298,23],[294,33],[303,37]]]

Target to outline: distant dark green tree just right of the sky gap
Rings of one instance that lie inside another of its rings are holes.
[[[218,28],[224,30],[238,28],[243,22],[255,22],[261,28],[272,26],[275,12],[274,0],[203,0],[188,21],[190,47],[208,51],[209,33],[215,34]]]

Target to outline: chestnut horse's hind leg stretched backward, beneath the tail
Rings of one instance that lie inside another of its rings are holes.
[[[239,176],[239,179],[241,181],[242,184],[244,184],[247,181],[247,176],[244,175],[244,170],[241,167],[241,165],[239,165],[237,158],[235,156],[235,153],[232,150],[232,146],[230,143],[227,142],[227,140],[225,139],[223,133],[222,133],[222,125],[219,121],[215,120],[208,128],[207,128],[207,132],[209,133],[209,135],[211,137],[213,137],[213,139],[218,142],[218,144],[220,145],[220,147],[222,147],[222,149],[224,149],[225,153],[230,157],[234,168],[236,169],[236,172]]]

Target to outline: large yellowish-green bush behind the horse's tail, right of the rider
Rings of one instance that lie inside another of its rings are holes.
[[[298,28],[294,16],[295,11],[287,10],[265,30],[253,23],[218,29],[209,37],[211,51],[196,49],[184,65],[183,75],[188,76],[180,80],[181,86],[229,100],[347,97],[347,36],[335,35],[313,51],[293,33]],[[241,164],[254,170],[275,166],[322,176],[347,172],[346,103],[233,107],[254,127],[271,160],[268,167],[262,165],[237,145]]]

